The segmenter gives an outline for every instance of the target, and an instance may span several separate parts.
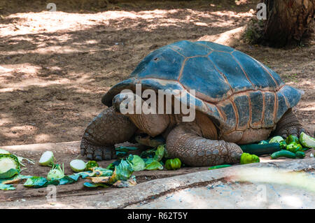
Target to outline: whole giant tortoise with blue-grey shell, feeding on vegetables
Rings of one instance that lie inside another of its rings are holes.
[[[175,95],[172,106],[175,100],[186,103],[195,109],[195,119],[183,122],[183,113],[173,112],[120,113],[130,99],[122,91],[136,93],[137,84],[142,91],[187,92],[186,99]],[[301,95],[272,69],[239,50],[207,41],[179,41],[151,52],[130,78],[109,89],[102,98],[108,108],[87,126],[81,154],[88,159],[113,159],[116,143],[141,132],[163,136],[169,156],[190,166],[235,164],[242,154],[240,144],[272,134],[299,136],[304,131],[291,109]]]

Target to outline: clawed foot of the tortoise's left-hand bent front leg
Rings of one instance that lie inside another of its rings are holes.
[[[96,161],[116,159],[116,150],[113,145],[99,146],[92,145],[85,138],[82,139],[80,145],[81,155]]]

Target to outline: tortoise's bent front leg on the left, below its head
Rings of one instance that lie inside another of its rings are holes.
[[[124,143],[133,136],[137,127],[128,117],[106,108],[94,117],[85,129],[80,150],[87,159],[109,160],[116,157],[114,145]]]

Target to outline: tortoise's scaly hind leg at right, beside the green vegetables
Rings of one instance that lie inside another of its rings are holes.
[[[276,129],[272,135],[286,138],[289,135],[300,136],[302,132],[307,133],[299,120],[297,120],[297,117],[293,114],[292,109],[289,109],[276,124]]]

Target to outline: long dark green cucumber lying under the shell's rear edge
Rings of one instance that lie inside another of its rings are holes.
[[[281,150],[279,143],[239,145],[243,152],[260,156]]]

